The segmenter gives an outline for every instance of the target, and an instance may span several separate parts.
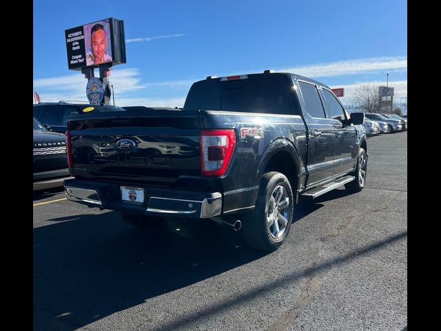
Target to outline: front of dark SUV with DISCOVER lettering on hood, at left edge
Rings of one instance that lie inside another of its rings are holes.
[[[55,188],[70,179],[65,135],[50,132],[34,117],[34,191]]]

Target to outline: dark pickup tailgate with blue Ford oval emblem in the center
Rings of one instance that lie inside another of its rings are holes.
[[[84,114],[70,118],[74,176],[173,185],[201,176],[198,112]]]

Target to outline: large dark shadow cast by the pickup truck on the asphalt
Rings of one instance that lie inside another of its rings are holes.
[[[294,221],[345,195],[302,201]],[[151,231],[126,224],[118,212],[50,221],[59,223],[33,232],[34,330],[75,330],[265,256],[240,232],[209,220],[167,219]]]

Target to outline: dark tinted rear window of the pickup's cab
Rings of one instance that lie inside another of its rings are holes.
[[[184,110],[292,114],[288,95],[289,86],[281,79],[200,81],[190,89]]]

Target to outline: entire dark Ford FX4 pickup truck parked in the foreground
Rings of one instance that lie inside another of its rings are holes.
[[[365,185],[364,114],[312,79],[265,70],[207,77],[183,109],[72,115],[66,132],[71,201],[149,226],[162,217],[212,219],[276,250],[298,195]]]

